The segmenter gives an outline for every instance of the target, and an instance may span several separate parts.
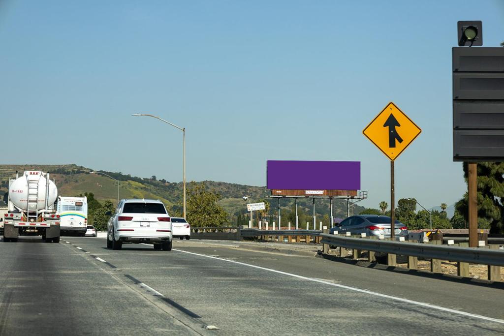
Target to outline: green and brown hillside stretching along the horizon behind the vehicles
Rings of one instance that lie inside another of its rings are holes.
[[[99,201],[110,200],[116,204],[117,183],[113,179],[91,173],[93,169],[77,165],[0,165],[0,196],[8,190],[9,178],[16,175],[16,170],[41,170],[51,173],[51,179],[55,179],[60,195],[75,196],[92,192]],[[160,199],[168,209],[172,206],[182,204],[182,183],[168,182],[164,179],[140,178],[131,175],[124,175],[116,172],[104,173],[119,180],[119,198],[154,198]],[[250,201],[255,202],[260,199],[271,200],[270,215],[277,213],[277,200],[268,198],[271,193],[266,187],[250,186],[236,183],[203,181],[207,189],[216,190],[222,198],[220,205],[230,215],[230,221],[236,223],[236,218],[240,214],[246,213],[246,204],[241,198],[246,195]],[[0,197],[1,199],[1,197]],[[281,199],[282,216],[285,216],[293,206],[294,200]],[[311,199],[298,200],[299,211],[311,216]],[[354,206],[354,213],[359,213],[363,207]],[[334,201],[334,216],[346,217],[346,201],[336,199]],[[316,213],[318,216],[329,215],[329,200],[322,199],[316,201]],[[271,219],[273,221],[274,218]]]

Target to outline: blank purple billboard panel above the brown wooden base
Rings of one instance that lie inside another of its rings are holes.
[[[359,190],[359,161],[268,161],[268,189]]]

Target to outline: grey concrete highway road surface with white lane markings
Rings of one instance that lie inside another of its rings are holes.
[[[0,243],[0,335],[502,334],[504,290],[246,244]]]

